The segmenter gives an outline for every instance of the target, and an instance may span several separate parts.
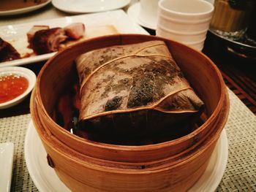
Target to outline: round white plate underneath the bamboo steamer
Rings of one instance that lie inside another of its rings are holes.
[[[46,158],[47,153],[42,146],[42,142],[39,139],[32,121],[29,123],[29,128],[26,131],[24,149],[26,166],[28,167],[29,174],[39,191],[70,191],[69,188],[59,180],[54,169],[48,166]],[[227,154],[227,134],[224,129],[219,137],[214,153],[211,155],[206,171],[189,192],[214,192],[225,172]]]

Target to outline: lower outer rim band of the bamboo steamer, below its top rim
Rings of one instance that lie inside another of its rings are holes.
[[[35,90],[32,91],[32,95],[34,95],[34,92],[35,92]],[[31,97],[31,110],[34,110],[32,101],[33,101],[33,99]],[[70,162],[74,161],[75,164],[79,164],[80,166],[86,166],[89,169],[95,169],[95,170],[98,170],[101,172],[108,172],[108,173],[114,173],[114,174],[115,173],[117,173],[117,174],[154,174],[154,173],[159,173],[159,172],[165,172],[170,169],[174,169],[178,166],[183,166],[184,164],[187,164],[187,162],[189,162],[189,161],[193,161],[195,158],[198,158],[198,156],[202,155],[206,150],[208,150],[208,147],[211,147],[211,145],[213,145],[215,147],[217,140],[219,139],[219,136],[222,133],[222,130],[225,126],[225,123],[227,122],[228,113],[230,110],[230,102],[229,102],[227,93],[225,95],[224,103],[225,104],[222,107],[222,110],[220,112],[220,114],[224,115],[224,116],[223,116],[223,118],[220,118],[220,120],[218,122],[219,123],[218,129],[215,130],[214,133],[211,133],[211,135],[213,135],[214,137],[208,137],[208,139],[206,139],[206,141],[203,142],[203,145],[197,146],[196,149],[192,150],[193,153],[189,153],[189,155],[184,155],[184,157],[181,157],[181,159],[180,159],[180,161],[178,161],[178,163],[170,164],[170,166],[168,166],[168,164],[163,167],[160,166],[159,169],[149,169],[149,170],[147,170],[147,169],[121,169],[118,167],[113,168],[113,167],[108,167],[108,166],[102,166],[102,165],[98,165],[98,164],[93,164],[91,162],[82,161],[79,158],[74,158],[74,156],[70,155],[69,153],[66,153],[66,151],[63,150],[63,148],[60,146],[51,147],[51,149],[54,150],[55,153],[58,153],[61,156],[65,156],[65,158],[69,158]],[[34,118],[32,118],[32,120],[34,121]],[[37,124],[37,122],[34,122],[34,123]],[[42,132],[41,129],[39,131]],[[45,136],[45,134],[42,134],[42,135]],[[40,137],[40,138],[48,146],[53,146],[54,141],[52,141],[50,139],[50,137]],[[61,143],[61,145],[64,145],[64,144]]]

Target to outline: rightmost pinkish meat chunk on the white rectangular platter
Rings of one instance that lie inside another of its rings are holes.
[[[64,31],[67,37],[71,39],[80,39],[84,35],[86,27],[83,23],[72,23],[69,26],[64,27]]]

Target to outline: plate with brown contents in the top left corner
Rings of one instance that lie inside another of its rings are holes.
[[[13,1],[10,4],[8,0],[1,0],[0,16],[1,15],[18,15],[25,12],[31,12],[49,4],[51,0],[33,2],[33,1]]]

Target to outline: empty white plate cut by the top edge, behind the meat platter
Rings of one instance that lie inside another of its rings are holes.
[[[53,0],[53,6],[64,12],[104,12],[127,6],[131,0]]]

